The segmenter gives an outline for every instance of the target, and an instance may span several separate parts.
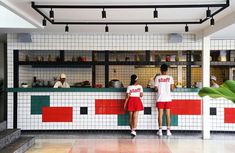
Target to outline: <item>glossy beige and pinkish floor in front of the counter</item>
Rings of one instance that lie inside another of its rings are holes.
[[[234,140],[36,139],[27,153],[234,153]]]

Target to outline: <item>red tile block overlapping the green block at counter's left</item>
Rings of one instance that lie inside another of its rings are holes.
[[[42,122],[73,122],[73,107],[43,107]]]

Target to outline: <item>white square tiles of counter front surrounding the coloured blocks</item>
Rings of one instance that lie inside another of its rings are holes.
[[[50,95],[50,106],[73,107],[72,123],[42,122],[42,115],[31,115],[31,95]],[[152,114],[139,112],[138,129],[158,129],[155,93],[146,93],[144,107],[151,107]],[[21,92],[18,94],[18,127],[22,130],[46,129],[129,129],[118,126],[118,115],[95,115],[95,99],[125,99],[125,93],[119,92]],[[200,99],[197,93],[174,93],[173,99]],[[88,115],[80,115],[80,107],[88,107]],[[166,127],[163,127],[166,128]],[[235,130],[235,125],[233,126]],[[201,130],[201,115],[178,115],[178,126],[174,130]]]

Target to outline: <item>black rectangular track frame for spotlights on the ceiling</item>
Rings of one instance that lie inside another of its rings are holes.
[[[216,14],[220,13],[227,7],[229,7],[230,2],[226,0],[226,2],[221,4],[180,4],[180,5],[37,5],[35,2],[32,2],[32,8],[37,11],[44,19],[48,20],[51,24],[62,24],[62,25],[159,25],[159,24],[202,24],[207,21],[209,18],[205,16],[203,19],[199,19],[198,21],[166,21],[166,22],[132,22],[132,21],[102,21],[102,22],[89,22],[89,21],[56,21],[55,19],[51,19],[46,14],[44,14],[40,9],[48,8],[48,9],[143,9],[143,8],[216,8],[217,10],[211,13],[210,18],[213,18]]]

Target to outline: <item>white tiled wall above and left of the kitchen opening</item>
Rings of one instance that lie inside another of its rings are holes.
[[[50,34],[32,33],[32,43],[21,43],[8,34],[8,88],[13,87],[13,50],[201,50],[193,34],[182,34],[182,43],[168,43],[167,34]],[[235,40],[211,40],[212,50],[235,50]],[[23,70],[23,69],[22,69]],[[8,127],[12,127],[13,94],[8,95]]]

